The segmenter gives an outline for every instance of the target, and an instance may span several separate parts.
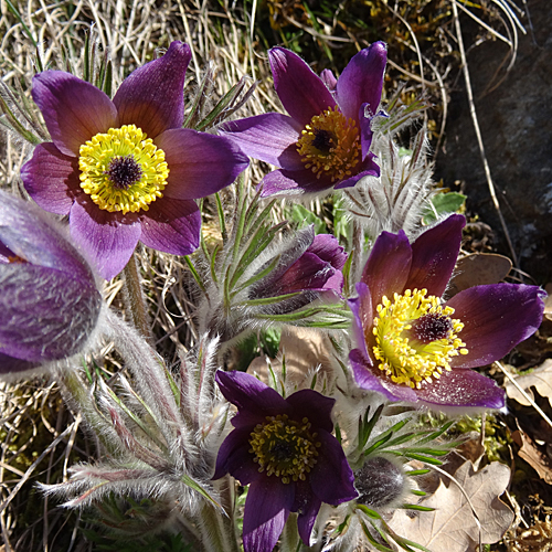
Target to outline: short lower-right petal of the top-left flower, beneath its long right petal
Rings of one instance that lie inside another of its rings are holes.
[[[161,198],[140,215],[144,245],[171,255],[190,255],[200,244],[201,213],[192,200]]]

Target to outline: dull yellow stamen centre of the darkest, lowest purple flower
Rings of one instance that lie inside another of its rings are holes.
[[[251,433],[250,453],[255,455],[258,470],[280,477],[284,484],[305,481],[321,446],[310,426],[308,418],[296,422],[287,414],[267,416],[265,423],[257,424]]]

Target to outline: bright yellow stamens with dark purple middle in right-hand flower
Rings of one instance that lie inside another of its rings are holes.
[[[439,379],[444,370],[450,371],[453,357],[468,353],[458,338],[464,325],[452,318],[454,309],[426,295],[426,289],[407,289],[394,294],[393,301],[383,296],[372,330],[378,368],[394,383],[412,389]]]

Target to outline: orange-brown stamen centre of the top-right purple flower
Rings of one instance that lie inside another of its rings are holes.
[[[302,129],[297,151],[305,168],[319,179],[322,174],[332,182],[352,174],[360,161],[360,135],[353,119],[347,120],[338,107],[315,115]]]

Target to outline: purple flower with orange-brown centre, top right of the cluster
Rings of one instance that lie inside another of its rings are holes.
[[[221,126],[248,156],[280,167],[264,178],[262,195],[316,193],[379,177],[371,121],[381,99],[385,44],[359,52],[338,79],[330,71],[318,77],[283,47],[273,47],[268,60],[289,116],[267,113]]]

